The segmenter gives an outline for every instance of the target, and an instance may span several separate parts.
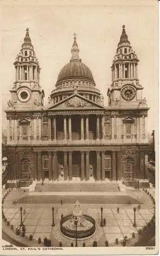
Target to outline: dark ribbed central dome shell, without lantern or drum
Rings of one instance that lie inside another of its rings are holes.
[[[59,72],[57,82],[66,79],[87,79],[94,82],[94,77],[90,69],[80,60],[72,60],[67,63]]]

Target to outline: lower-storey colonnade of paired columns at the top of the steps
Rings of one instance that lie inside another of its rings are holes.
[[[34,152],[33,179],[82,181],[117,180],[117,153],[106,151],[49,151]]]

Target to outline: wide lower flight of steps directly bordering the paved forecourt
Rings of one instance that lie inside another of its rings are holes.
[[[17,204],[74,204],[77,200],[83,204],[141,204],[127,195],[29,195],[16,201]]]

